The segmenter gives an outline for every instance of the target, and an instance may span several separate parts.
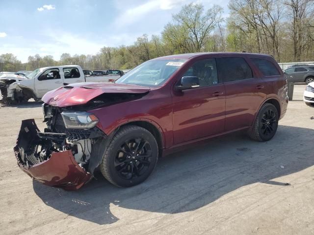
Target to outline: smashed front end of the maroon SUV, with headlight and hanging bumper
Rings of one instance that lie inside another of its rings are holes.
[[[67,112],[43,105],[47,128],[34,119],[22,121],[14,147],[20,168],[33,179],[53,187],[78,189],[93,178],[101,162],[106,135],[98,119],[86,112]]]

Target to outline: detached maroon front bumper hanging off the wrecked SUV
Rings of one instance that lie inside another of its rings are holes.
[[[38,147],[41,141],[38,132],[34,119],[22,121],[14,153],[19,167],[26,174],[44,185],[69,190],[81,188],[92,179],[92,174],[78,165],[70,150],[52,152],[47,160],[33,164],[36,159],[30,153],[34,153],[34,146]]]

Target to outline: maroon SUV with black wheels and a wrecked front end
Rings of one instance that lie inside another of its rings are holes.
[[[47,128],[23,120],[19,166],[43,184],[78,189],[100,169],[137,185],[174,148],[247,129],[269,141],[288,105],[287,80],[268,55],[191,53],[147,61],[115,83],[77,83],[44,95]]]

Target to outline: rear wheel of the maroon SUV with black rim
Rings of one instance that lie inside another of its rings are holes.
[[[269,141],[278,128],[279,115],[273,104],[265,103],[259,110],[248,135],[255,141]]]

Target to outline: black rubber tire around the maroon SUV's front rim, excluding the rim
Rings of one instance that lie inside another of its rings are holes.
[[[120,148],[121,144],[131,138],[138,138],[141,137],[144,140],[148,141],[152,148],[152,157],[151,157],[151,164],[149,165],[146,172],[141,175],[140,177],[127,180],[123,179],[114,167],[114,158],[117,152],[117,149]],[[137,184],[142,183],[145,181],[150,174],[153,172],[154,168],[156,167],[158,159],[158,145],[157,141],[154,136],[147,131],[146,129],[139,128],[139,129],[131,129],[125,135],[120,136],[118,139],[111,141],[108,146],[108,151],[106,151],[104,161],[107,161],[108,171],[110,174],[111,180],[120,187],[131,187]]]

